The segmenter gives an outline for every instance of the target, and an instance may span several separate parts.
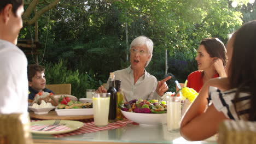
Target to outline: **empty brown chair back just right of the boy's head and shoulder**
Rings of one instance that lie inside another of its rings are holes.
[[[55,94],[71,95],[71,83],[46,85],[45,87],[53,91]]]

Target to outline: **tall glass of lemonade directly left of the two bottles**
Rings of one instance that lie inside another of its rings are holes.
[[[92,104],[94,105],[94,124],[96,127],[108,125],[110,93],[92,94]]]

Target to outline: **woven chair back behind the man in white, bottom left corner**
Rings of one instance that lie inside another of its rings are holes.
[[[28,114],[0,114],[0,144],[31,144],[30,117]]]

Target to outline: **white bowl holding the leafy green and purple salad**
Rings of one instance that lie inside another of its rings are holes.
[[[135,113],[122,110],[121,112],[127,119],[145,126],[165,124],[167,121],[167,113]]]

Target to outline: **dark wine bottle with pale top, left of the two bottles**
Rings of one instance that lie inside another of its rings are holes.
[[[117,90],[115,89],[115,75],[114,73],[110,73],[109,75],[109,88],[108,93],[110,93],[110,101],[109,101],[109,113],[108,113],[108,122],[112,123],[115,121],[115,117],[117,116]]]

